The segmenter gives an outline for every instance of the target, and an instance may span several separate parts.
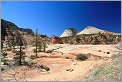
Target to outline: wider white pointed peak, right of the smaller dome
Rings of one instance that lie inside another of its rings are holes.
[[[93,26],[87,26],[84,30],[80,31],[77,35],[81,35],[81,34],[97,34],[99,32],[102,32],[104,30],[98,29],[96,27]]]

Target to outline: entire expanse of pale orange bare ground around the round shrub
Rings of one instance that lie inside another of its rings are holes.
[[[32,53],[34,47],[26,50],[26,55],[35,55]],[[69,44],[55,44],[49,45],[46,50],[54,49],[54,51],[62,52],[55,53],[49,58],[50,53],[38,53],[38,56],[42,58],[34,59],[33,62],[38,64],[46,65],[50,68],[50,71],[45,70],[23,70],[26,71],[26,78],[28,81],[71,81],[71,80],[84,80],[85,76],[92,71],[94,68],[109,63],[112,61],[110,58],[120,52],[119,49],[115,48],[115,45],[69,45]],[[100,51],[99,51],[100,50]],[[110,54],[107,54],[110,52]],[[86,61],[77,61],[75,59],[66,59],[66,57],[75,58],[77,54],[92,54],[103,57],[102,59],[88,59]],[[12,54],[11,54],[12,55]],[[47,57],[46,57],[47,56]],[[109,57],[109,58],[104,58]],[[22,75],[22,69],[16,68],[15,70],[3,72],[3,77],[6,77],[10,73],[19,71],[20,76]],[[19,76],[18,76],[19,77]]]

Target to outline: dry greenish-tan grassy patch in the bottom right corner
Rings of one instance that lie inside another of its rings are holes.
[[[87,80],[117,80],[120,81],[120,62],[114,61],[107,65],[103,65],[101,67],[93,70],[92,73],[88,77]]]

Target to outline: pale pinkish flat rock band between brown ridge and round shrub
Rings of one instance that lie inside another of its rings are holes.
[[[55,45],[56,47],[62,46],[62,48],[57,48],[54,51],[60,51],[64,53],[64,55],[67,54],[88,54],[91,53],[96,56],[101,57],[111,57],[114,54],[118,54],[121,50],[118,50],[115,48],[115,45]],[[54,47],[54,48],[56,48]],[[99,52],[99,50],[101,50]],[[110,54],[107,54],[107,52],[110,52]]]

